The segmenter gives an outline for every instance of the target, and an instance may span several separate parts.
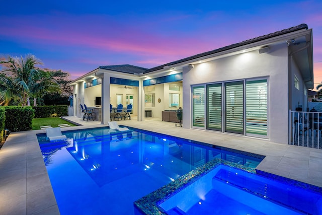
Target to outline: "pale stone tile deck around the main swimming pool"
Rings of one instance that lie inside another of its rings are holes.
[[[77,117],[64,118],[82,126],[65,127],[63,131],[107,126]],[[139,122],[132,117],[132,120],[118,121],[118,124],[264,155],[266,158],[257,169],[322,187],[322,150],[185,129],[159,118]],[[1,214],[59,214],[36,136],[43,132],[45,130],[13,132],[0,150]]]

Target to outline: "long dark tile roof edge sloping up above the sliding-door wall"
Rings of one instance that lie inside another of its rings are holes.
[[[228,46],[225,46],[225,47],[222,47],[222,48],[218,48],[218,49],[215,49],[215,50],[212,50],[212,51],[207,51],[207,52],[203,52],[203,53],[200,53],[200,54],[196,54],[196,55],[193,55],[193,56],[190,56],[190,57],[186,57],[186,58],[176,60],[176,61],[173,61],[173,62],[170,62],[170,63],[167,63],[167,64],[163,64],[163,65],[159,65],[159,66],[150,68],[150,69],[146,70],[143,73],[149,73],[151,71],[163,69],[164,66],[171,66],[171,65],[174,65],[174,64],[177,64],[177,63],[185,62],[185,61],[188,61],[188,60],[193,60],[193,59],[196,59],[196,58],[199,58],[199,57],[211,55],[211,54],[218,53],[218,52],[221,52],[221,51],[226,51],[226,50],[229,50],[229,49],[232,49],[232,48],[236,48],[236,47],[243,46],[243,45],[248,45],[248,44],[255,43],[255,42],[258,42],[258,41],[261,41],[261,40],[269,39],[269,38],[272,38],[272,37],[277,37],[277,36],[280,36],[280,35],[283,35],[283,34],[291,33],[291,32],[302,30],[302,29],[308,29],[307,25],[306,24],[300,24],[298,26],[294,26],[294,27],[291,27],[291,28],[288,28],[288,29],[284,29],[284,30],[277,31],[277,32],[274,32],[274,33],[266,34],[266,35],[256,37],[256,38],[253,38],[253,39],[245,40],[245,41],[240,42],[240,43],[235,43],[235,44],[228,45]]]

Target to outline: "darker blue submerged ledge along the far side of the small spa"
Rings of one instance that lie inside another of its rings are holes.
[[[283,182],[256,174],[248,174],[237,169],[231,171],[220,169],[213,177],[214,187],[216,186],[215,181],[220,181],[266,200],[309,214],[315,214],[317,210],[317,205],[314,205],[312,200],[322,201],[322,195],[310,192],[305,188],[290,186]]]

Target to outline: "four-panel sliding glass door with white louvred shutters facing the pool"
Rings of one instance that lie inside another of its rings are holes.
[[[268,137],[268,79],[247,79],[192,88],[193,126]]]

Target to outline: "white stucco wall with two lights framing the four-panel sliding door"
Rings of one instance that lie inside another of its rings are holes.
[[[183,126],[192,125],[193,85],[268,77],[268,137],[288,142],[288,51],[285,44],[270,46],[270,52],[251,51],[220,58],[183,70]],[[188,123],[189,122],[189,123]]]

